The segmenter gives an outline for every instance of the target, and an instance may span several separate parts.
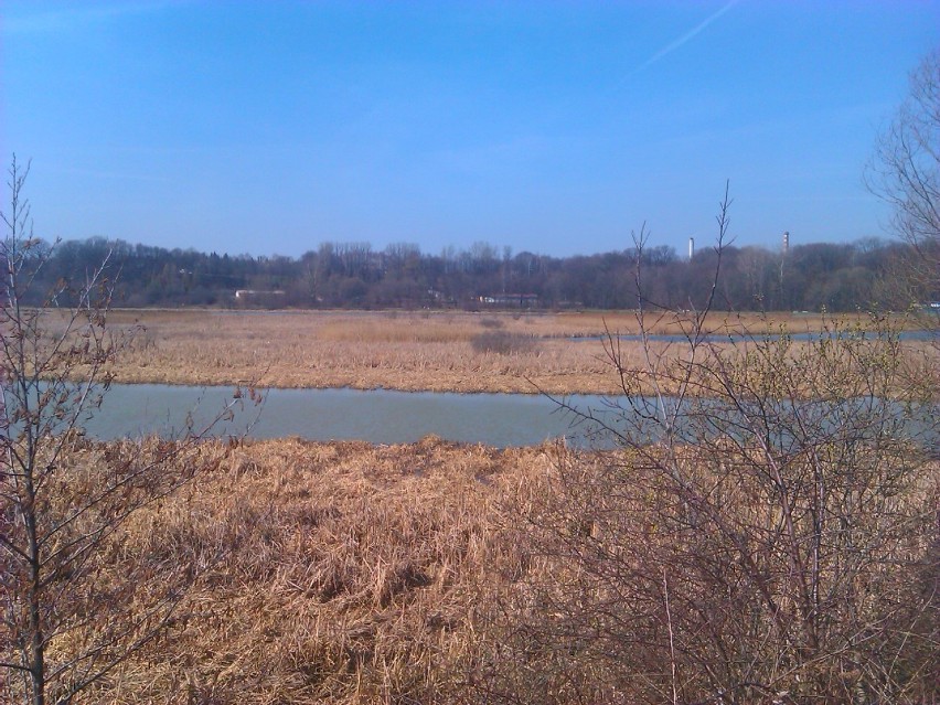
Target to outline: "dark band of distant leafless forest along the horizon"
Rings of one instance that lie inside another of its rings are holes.
[[[697,308],[719,264],[713,248],[702,248],[691,260],[665,246],[644,248],[639,256],[628,248],[549,257],[485,243],[439,255],[413,244],[376,250],[367,243],[323,243],[291,258],[92,238],[55,247],[39,243],[33,252],[35,263],[44,260],[38,275],[45,286],[35,290],[81,280],[108,258],[118,307],[628,309],[637,306],[639,259],[640,290],[648,305]],[[727,246],[715,306],[853,311],[940,298],[937,291],[900,290],[896,282],[904,279],[908,256],[908,245],[876,238],[795,245],[786,253]]]

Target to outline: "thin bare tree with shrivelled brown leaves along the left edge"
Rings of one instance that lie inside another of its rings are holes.
[[[196,441],[232,405],[172,441],[84,438],[135,329],[107,325],[108,258],[24,306],[51,253],[33,236],[28,172],[14,158],[0,249],[0,697],[43,705],[72,702],[170,622],[192,567],[148,556],[118,570],[121,532],[204,468]]]

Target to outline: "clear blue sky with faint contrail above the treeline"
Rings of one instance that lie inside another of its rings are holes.
[[[863,184],[940,2],[4,0],[36,234],[684,252],[886,236]],[[4,201],[6,202],[6,201]],[[6,210],[6,207],[4,207]]]

